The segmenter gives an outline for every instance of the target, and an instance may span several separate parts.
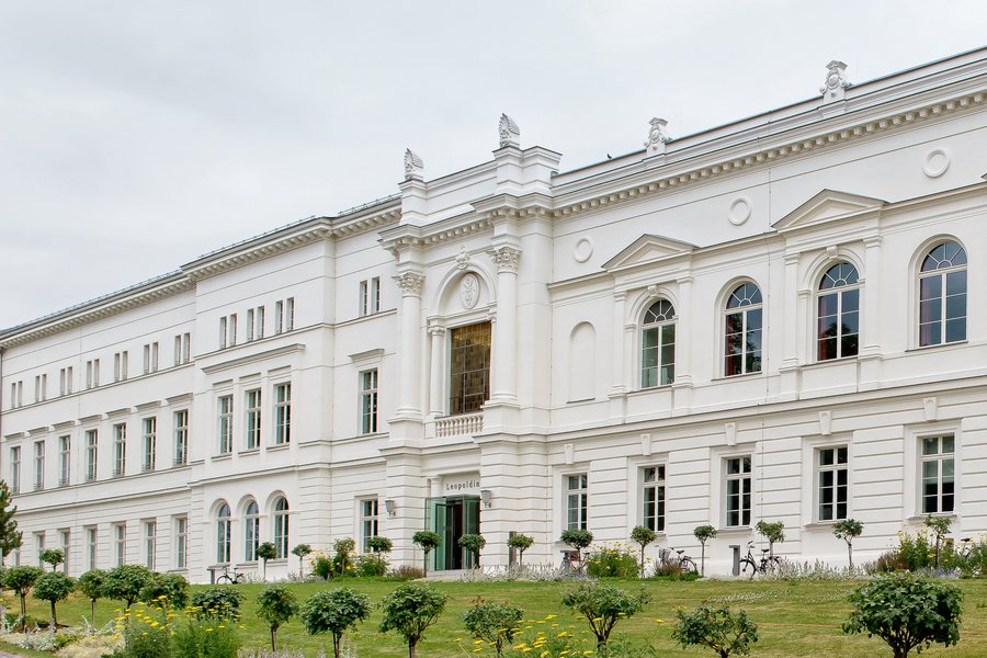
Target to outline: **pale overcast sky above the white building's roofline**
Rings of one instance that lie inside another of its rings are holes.
[[[985,44],[966,0],[2,0],[0,327],[393,194],[405,148],[487,161],[501,112],[568,170]]]

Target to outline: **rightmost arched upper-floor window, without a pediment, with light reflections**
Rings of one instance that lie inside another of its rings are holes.
[[[919,345],[960,340],[966,340],[966,252],[956,242],[941,242],[919,273]]]

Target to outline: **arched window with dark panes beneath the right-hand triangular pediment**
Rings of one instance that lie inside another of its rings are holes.
[[[860,337],[860,276],[850,263],[837,263],[819,281],[816,358],[856,356]]]

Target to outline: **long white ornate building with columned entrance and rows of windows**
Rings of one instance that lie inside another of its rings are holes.
[[[987,49],[558,172],[500,148],[0,332],[2,475],[68,568],[208,578],[305,542],[558,563],[636,524],[714,569],[760,519],[863,558],[987,532]],[[273,574],[297,569],[275,560]]]

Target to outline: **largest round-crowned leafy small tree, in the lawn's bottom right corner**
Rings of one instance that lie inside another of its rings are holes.
[[[952,646],[960,642],[960,588],[910,572],[877,576],[850,594],[853,611],[843,622],[843,633],[876,635],[887,643],[895,658],[911,649],[928,649],[932,643]]]

